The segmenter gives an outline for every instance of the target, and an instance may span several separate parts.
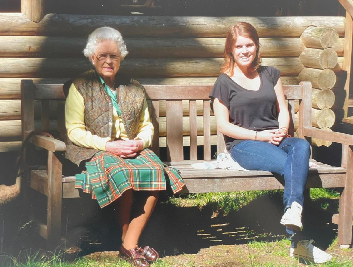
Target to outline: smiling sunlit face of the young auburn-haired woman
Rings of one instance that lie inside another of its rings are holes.
[[[252,39],[238,36],[233,50],[235,64],[239,67],[249,67],[256,57],[256,44]]]

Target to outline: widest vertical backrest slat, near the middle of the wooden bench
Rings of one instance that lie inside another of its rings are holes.
[[[183,160],[183,102],[166,101],[167,157],[168,160]]]

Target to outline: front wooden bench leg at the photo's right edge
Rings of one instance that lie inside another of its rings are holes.
[[[344,160],[344,159],[342,159]],[[340,198],[340,213],[338,225],[338,243],[348,245],[352,243],[353,218],[353,151],[349,147],[347,153],[346,186]]]

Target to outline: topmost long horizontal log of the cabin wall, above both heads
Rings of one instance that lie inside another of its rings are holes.
[[[152,17],[112,15],[47,14],[34,23],[22,13],[0,14],[0,35],[87,36],[102,26],[121,31],[126,37],[226,37],[235,23],[246,21],[260,37],[299,37],[308,26],[331,27],[340,36],[344,17]]]

